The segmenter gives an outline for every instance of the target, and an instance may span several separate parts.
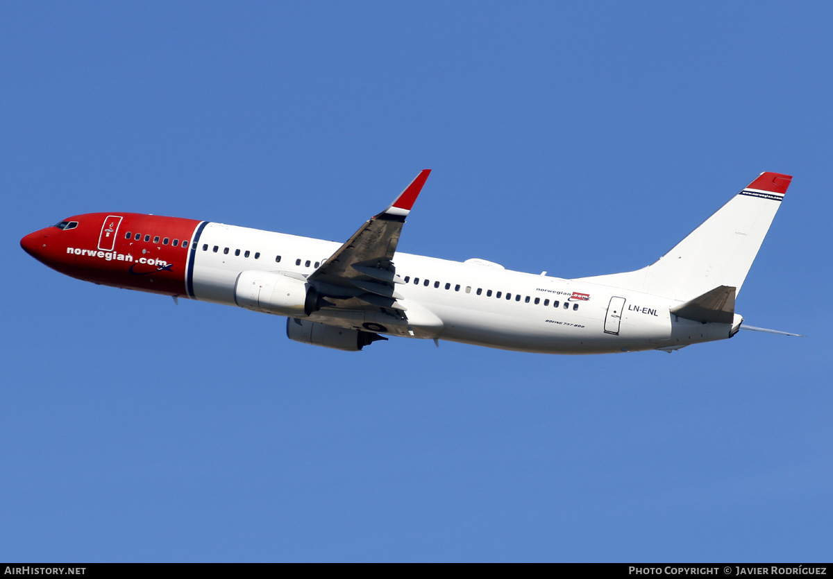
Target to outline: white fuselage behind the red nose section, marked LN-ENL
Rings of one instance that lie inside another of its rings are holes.
[[[235,305],[235,281],[242,271],[309,275],[341,245],[218,223],[208,223],[197,244],[192,297],[230,305]],[[411,335],[420,338],[525,352],[601,354],[726,339],[741,320],[736,315],[733,324],[702,324],[671,314],[678,300],[504,270],[481,260],[397,252],[394,263],[407,281],[396,290],[416,328]],[[322,309],[310,319],[358,329],[361,315]]]

